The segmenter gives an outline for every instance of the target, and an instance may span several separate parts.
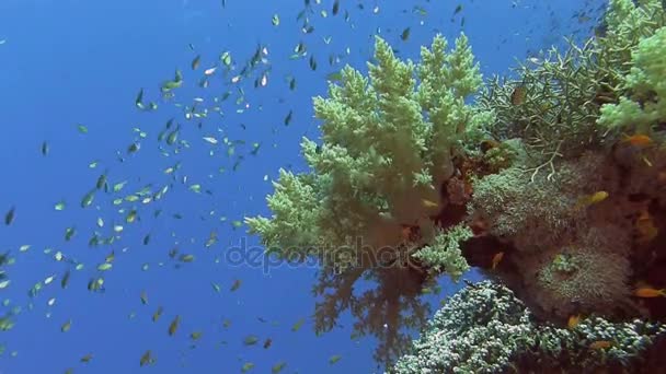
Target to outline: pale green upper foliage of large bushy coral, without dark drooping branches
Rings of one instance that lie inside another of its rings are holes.
[[[345,67],[329,97],[313,100],[322,143],[301,142],[311,174],[280,171],[268,197],[273,217],[248,218],[250,232],[283,256],[348,248],[359,237],[375,248],[401,245],[403,224],[433,214],[422,201],[439,201],[455,150],[493,116],[464,104],[482,84],[467,37],[446,49],[438,35],[421,63],[401,61],[377,37],[369,78]]]

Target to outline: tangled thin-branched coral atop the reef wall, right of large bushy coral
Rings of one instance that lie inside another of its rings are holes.
[[[577,156],[601,144],[609,135],[617,136],[608,132],[606,122],[620,120],[618,115],[606,109],[609,119],[597,124],[599,108],[620,96],[631,68],[631,51],[641,38],[666,23],[659,0],[639,3],[610,1],[605,36],[590,38],[583,46],[570,43],[563,54],[551,48],[542,58],[520,66],[518,80],[495,78],[479,100],[482,108],[496,113],[497,121],[490,132],[497,139],[521,138],[536,165]],[[653,52],[655,59],[643,55],[643,60],[659,61],[657,51]]]

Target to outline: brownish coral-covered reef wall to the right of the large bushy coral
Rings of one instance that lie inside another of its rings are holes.
[[[605,22],[606,35],[550,50],[479,100],[496,121],[486,128],[493,145],[472,155],[467,220],[501,247],[468,241],[463,255],[560,323],[579,313],[666,316],[661,301],[633,295],[639,283],[666,284],[656,276],[666,262],[666,14],[658,1],[612,0]],[[519,156],[487,167],[491,151],[516,138]]]

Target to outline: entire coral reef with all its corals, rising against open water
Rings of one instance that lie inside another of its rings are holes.
[[[416,344],[426,361],[399,367],[633,364],[655,326],[635,318],[666,317],[666,297],[635,293],[666,287],[666,13],[661,0],[610,0],[604,24],[517,80],[490,81],[474,104],[482,80],[464,35],[449,52],[436,36],[417,63],[377,38],[369,79],[346,67],[314,98],[322,142],[301,143],[311,172],[282,170],[273,217],[245,222],[279,257],[322,260],[318,331],[348,307],[357,332],[382,337],[386,362],[405,341],[400,325],[423,320],[420,289],[478,267],[513,293],[470,290],[478,300],[445,307]],[[354,295],[361,278],[378,289]],[[555,327],[576,315],[575,330]],[[590,353],[595,339],[612,343]]]

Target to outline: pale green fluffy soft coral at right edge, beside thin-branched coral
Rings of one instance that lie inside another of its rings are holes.
[[[639,43],[633,67],[624,78],[631,95],[601,107],[599,124],[609,128],[635,127],[643,131],[666,121],[666,27]]]

